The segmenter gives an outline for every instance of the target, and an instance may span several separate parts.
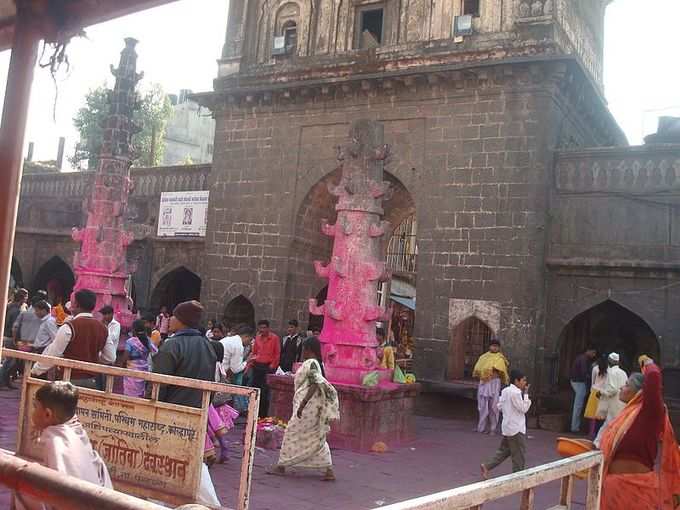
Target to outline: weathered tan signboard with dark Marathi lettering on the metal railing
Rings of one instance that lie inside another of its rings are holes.
[[[41,384],[28,380],[26,402]],[[39,460],[30,406],[26,411],[19,454]],[[201,409],[81,388],[77,412],[116,490],[167,502],[195,500],[206,433]]]

